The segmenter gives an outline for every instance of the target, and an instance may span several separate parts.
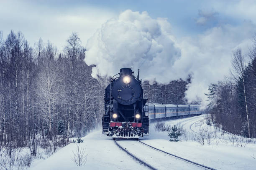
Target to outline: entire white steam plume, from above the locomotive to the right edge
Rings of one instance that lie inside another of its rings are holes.
[[[218,25],[195,37],[175,37],[167,19],[152,19],[146,12],[126,10],[108,20],[88,40],[85,62],[92,76],[113,76],[122,67],[141,70],[143,80],[168,83],[192,74],[186,92],[189,102],[206,105],[207,87],[228,75],[232,50],[246,52],[255,25]]]

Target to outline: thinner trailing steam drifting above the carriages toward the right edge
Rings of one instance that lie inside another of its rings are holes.
[[[202,105],[207,104],[207,87],[211,82],[217,83],[229,76],[233,50],[240,47],[246,55],[255,30],[253,23],[245,21],[237,26],[225,24],[214,27],[194,38],[182,38],[182,57],[177,60],[174,69],[183,66],[180,71],[193,72],[192,84],[186,92],[189,102],[199,97]]]

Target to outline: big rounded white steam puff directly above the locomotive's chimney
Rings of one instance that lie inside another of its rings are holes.
[[[108,20],[88,40],[87,65],[93,77],[113,76],[122,67],[141,70],[143,80],[168,83],[173,77],[170,68],[181,56],[165,19],[154,20],[148,13],[126,10],[118,19]],[[171,74],[170,74],[171,73]]]

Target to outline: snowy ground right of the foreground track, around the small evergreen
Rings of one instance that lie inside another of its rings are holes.
[[[208,125],[206,125],[204,119],[205,115],[201,115],[183,120],[170,120],[167,124],[175,125],[180,122],[183,128],[187,130],[187,135],[193,138],[193,135],[199,136],[195,132],[200,133],[200,130],[207,129]],[[209,126],[209,128],[213,127]],[[217,135],[221,135],[221,130]],[[215,141],[212,136],[210,145],[207,144],[206,140],[205,145],[201,145],[195,140],[169,142],[167,132],[151,130],[150,136],[143,138],[141,141],[166,152],[218,170],[255,170],[256,145],[248,144],[245,147],[233,146],[233,143],[228,140],[228,134],[225,134],[224,138],[225,140],[220,139],[219,141]]]

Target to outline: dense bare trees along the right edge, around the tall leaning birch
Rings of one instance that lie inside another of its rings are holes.
[[[233,51],[231,76],[210,84],[206,94],[212,121],[225,131],[248,138],[256,138],[256,35],[253,44],[248,54],[240,48]]]

